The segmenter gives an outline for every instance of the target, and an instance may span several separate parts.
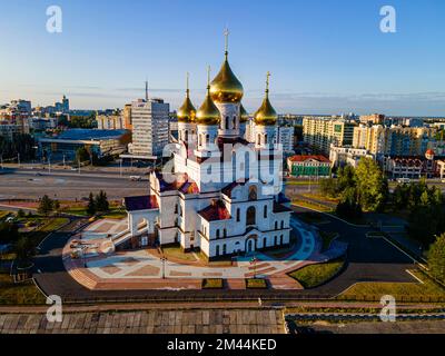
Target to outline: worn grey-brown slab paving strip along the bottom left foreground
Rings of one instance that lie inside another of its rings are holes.
[[[62,323],[44,314],[0,314],[0,334],[283,334],[276,309],[206,309],[66,313]]]

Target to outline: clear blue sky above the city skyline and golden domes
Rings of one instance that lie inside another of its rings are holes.
[[[229,61],[255,111],[270,71],[280,113],[445,116],[443,0],[0,0],[0,103],[118,108],[161,97],[177,109],[186,72],[199,107],[206,68]],[[380,31],[380,8],[396,32]],[[47,31],[47,8],[62,32]]]

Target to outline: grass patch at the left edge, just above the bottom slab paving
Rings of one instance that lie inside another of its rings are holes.
[[[14,284],[8,274],[0,274],[0,305],[39,305],[46,298],[29,280]]]

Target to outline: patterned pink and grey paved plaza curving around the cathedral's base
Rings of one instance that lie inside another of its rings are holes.
[[[102,233],[105,225],[109,228],[111,222],[95,222],[89,231]],[[115,221],[112,229],[116,230],[117,227],[123,227],[122,220]],[[329,251],[322,254],[323,244],[312,226],[293,219],[291,227],[298,231],[301,243],[296,244],[295,249],[281,258],[256,253],[255,266],[250,261],[253,256],[238,257],[234,267],[190,266],[177,260],[167,260],[162,266],[159,256],[147,250],[71,259],[70,244],[63,249],[63,260],[71,277],[89,289],[200,289],[205,278],[224,278],[229,281],[230,289],[244,289],[244,279],[253,277],[268,279],[274,289],[301,289],[288,273],[335,258],[335,255],[346,250],[346,246],[343,243],[334,243]],[[91,241],[93,236],[88,235],[88,241]],[[162,278],[162,275],[166,278]],[[243,283],[237,283],[237,279]]]

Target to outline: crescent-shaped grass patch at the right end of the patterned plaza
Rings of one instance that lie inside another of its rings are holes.
[[[314,288],[332,279],[343,268],[345,260],[334,259],[324,264],[309,265],[289,274],[304,288]]]

